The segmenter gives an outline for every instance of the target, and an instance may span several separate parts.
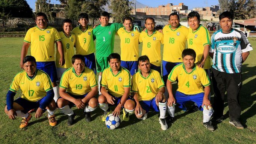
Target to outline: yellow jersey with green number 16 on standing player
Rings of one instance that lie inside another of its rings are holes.
[[[211,46],[211,36],[209,31],[201,24],[195,31],[193,31],[192,28],[188,29],[188,48],[194,49],[197,55],[195,57],[195,63],[197,63],[203,56],[204,45]],[[209,55],[204,62],[204,69],[211,69],[211,58]]]

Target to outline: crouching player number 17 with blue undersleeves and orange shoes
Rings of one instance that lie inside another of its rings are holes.
[[[24,57],[23,69],[24,71],[15,75],[7,93],[5,113],[12,120],[15,116],[22,117],[20,128],[24,128],[32,117],[29,111],[37,109],[35,117],[39,118],[47,110],[50,126],[56,126],[57,121],[54,116],[56,105],[49,76],[44,71],[36,69],[36,60],[32,56]],[[21,97],[14,101],[19,89],[22,92]]]

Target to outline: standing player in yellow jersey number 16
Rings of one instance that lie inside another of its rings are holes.
[[[188,48],[194,49],[196,53],[195,63],[206,71],[208,77],[211,74],[211,58],[208,55],[211,46],[211,36],[207,28],[200,24],[200,15],[198,12],[188,14]],[[211,77],[209,77],[211,78]],[[209,93],[209,99],[211,93]],[[190,111],[197,111],[198,106],[195,104]]]

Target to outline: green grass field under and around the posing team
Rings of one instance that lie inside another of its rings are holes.
[[[135,115],[130,116],[129,122],[121,122],[120,127],[109,130],[105,122],[101,121],[103,111],[97,108],[92,112],[92,121],[84,120],[82,110],[73,108],[77,114],[76,123],[67,126],[67,115],[56,111],[57,126],[48,124],[46,113],[41,118],[32,117],[29,126],[20,129],[21,118],[11,120],[4,113],[6,93],[19,68],[20,51],[23,38],[0,39],[0,143],[167,143],[167,144],[255,144],[256,143],[256,39],[250,38],[254,50],[242,66],[243,86],[240,93],[242,107],[241,123],[245,129],[236,129],[229,124],[228,106],[225,103],[225,120],[215,125],[211,132],[203,126],[203,114],[200,111],[188,114],[176,108],[176,116],[168,130],[161,130],[158,113],[149,113],[144,121]],[[120,53],[119,37],[115,37],[115,52]],[[29,50],[30,51],[30,50]],[[140,45],[141,53],[141,45]],[[212,93],[213,94],[213,93]],[[15,99],[20,96],[20,91]],[[213,102],[213,96],[212,96]],[[32,116],[35,113],[32,113]],[[122,117],[122,115],[120,115]]]

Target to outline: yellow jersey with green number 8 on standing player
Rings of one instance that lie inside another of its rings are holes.
[[[61,58],[61,55],[59,54],[59,51],[57,51],[55,61],[56,68],[70,68],[72,67],[71,58],[75,53],[74,44],[76,43],[76,35],[71,33],[71,36],[67,37],[63,31],[59,32],[59,35],[61,36],[65,64],[63,66],[59,64],[59,58]]]

